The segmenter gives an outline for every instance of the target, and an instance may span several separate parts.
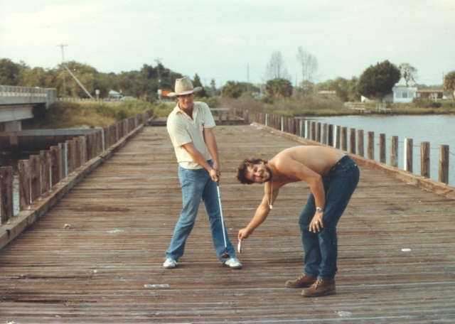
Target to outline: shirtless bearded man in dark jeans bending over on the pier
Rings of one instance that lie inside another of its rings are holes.
[[[317,297],[336,293],[335,274],[338,244],[336,225],[357,186],[359,171],[343,152],[326,146],[295,146],[272,160],[245,159],[237,168],[240,183],[264,183],[264,198],[247,227],[243,239],[264,222],[277,199],[279,188],[305,181],[311,193],[299,216],[304,246],[304,273],[289,280],[289,288],[304,288],[302,296]]]

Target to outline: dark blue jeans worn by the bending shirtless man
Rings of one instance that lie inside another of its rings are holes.
[[[357,186],[360,173],[349,156],[343,156],[329,173],[322,178],[326,193],[326,206],[322,217],[321,232],[310,232],[309,225],[314,217],[316,205],[311,193],[299,217],[301,243],[304,246],[304,274],[318,279],[335,278],[338,257],[336,225]]]

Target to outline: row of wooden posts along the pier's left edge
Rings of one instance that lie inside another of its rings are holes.
[[[83,178],[85,174],[80,176],[78,171],[88,164],[90,165],[87,169],[89,171],[86,171],[88,173],[102,163],[109,154],[112,154],[112,151],[124,143],[128,136],[141,129],[152,114],[151,110],[137,114],[103,129],[51,146],[50,150],[31,155],[28,160],[18,161],[18,214],[37,209],[36,207],[42,205],[41,202],[44,200],[49,200],[46,203],[53,205],[69,190],[66,184],[73,182],[74,185]],[[13,167],[0,167],[1,225],[18,221],[14,220],[17,216],[14,215],[13,181]],[[61,192],[59,195],[51,200],[48,199],[58,190]],[[33,215],[33,217],[38,218],[40,215]],[[30,220],[31,218],[28,217],[27,222]],[[5,227],[7,237],[2,239],[1,227],[0,248],[12,234],[12,229]]]

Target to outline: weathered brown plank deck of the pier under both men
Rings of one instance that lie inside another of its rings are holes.
[[[236,245],[263,195],[237,183],[237,164],[301,143],[261,126],[215,134]],[[304,183],[280,190],[237,254],[241,270],[218,263],[201,206],[178,267],[164,269],[181,191],[166,128],[145,127],[0,250],[0,323],[455,322],[455,200],[360,166],[338,225],[337,294],[304,298],[284,282],[303,269],[308,194]]]

